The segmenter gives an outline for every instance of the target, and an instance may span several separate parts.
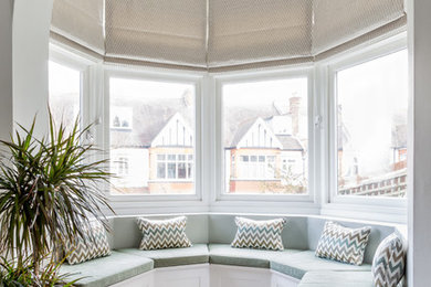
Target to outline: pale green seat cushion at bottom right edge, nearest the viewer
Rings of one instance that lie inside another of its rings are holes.
[[[309,272],[298,287],[372,287],[371,272]]]

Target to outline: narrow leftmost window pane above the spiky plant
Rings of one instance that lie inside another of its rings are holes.
[[[80,115],[81,72],[49,62],[50,108],[55,125],[63,124],[70,131]]]

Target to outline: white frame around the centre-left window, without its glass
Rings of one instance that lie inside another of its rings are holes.
[[[111,106],[111,95],[109,95],[109,79],[112,77],[124,78],[124,79],[141,79],[141,81],[155,81],[160,83],[178,83],[192,85],[196,88],[195,93],[195,153],[193,153],[193,193],[191,194],[112,194],[109,184],[104,184],[103,190],[105,191],[106,196],[114,204],[117,203],[127,203],[136,202],[138,204],[143,203],[154,203],[154,202],[201,202],[204,194],[202,192],[202,139],[201,139],[201,103],[202,103],[202,74],[201,73],[187,73],[179,71],[169,71],[169,70],[159,70],[159,68],[146,68],[146,67],[133,67],[133,66],[122,66],[122,65],[109,65],[105,64],[103,66],[104,71],[104,93],[103,93],[103,115],[102,115],[102,129],[103,129],[103,141],[102,147],[106,153],[109,153],[109,130],[111,130],[111,120],[109,120],[109,106]],[[109,155],[105,156],[105,159],[109,158]],[[107,163],[109,169],[109,162]],[[162,204],[162,203],[161,203]],[[167,208],[167,204],[162,204]],[[135,206],[130,205],[130,209]]]

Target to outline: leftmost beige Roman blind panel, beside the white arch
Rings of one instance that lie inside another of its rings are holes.
[[[94,52],[105,52],[104,0],[54,0],[51,30]]]

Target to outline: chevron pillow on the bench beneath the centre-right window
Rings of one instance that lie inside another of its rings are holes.
[[[235,217],[235,224],[238,230],[231,243],[232,247],[283,251],[282,232],[286,224],[285,219],[253,221]]]

